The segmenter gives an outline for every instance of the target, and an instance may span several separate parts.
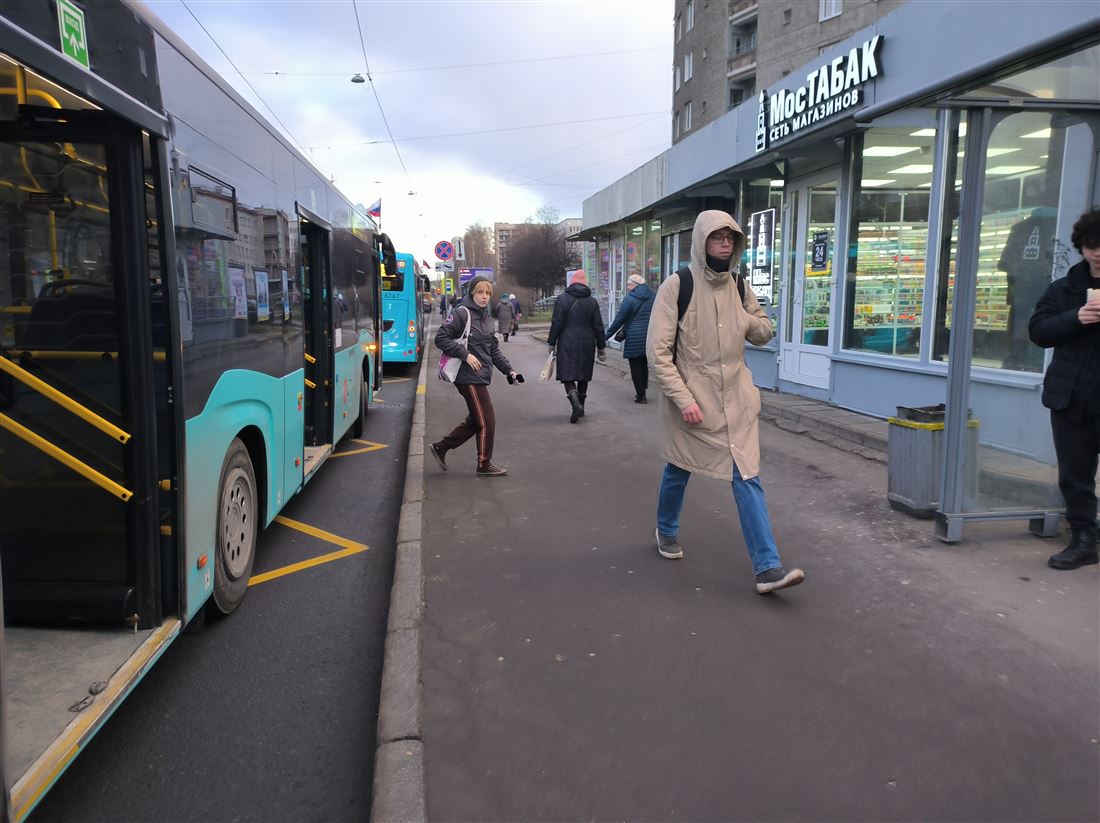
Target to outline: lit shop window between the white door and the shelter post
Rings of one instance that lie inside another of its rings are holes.
[[[872,129],[856,144],[846,349],[920,356],[935,142],[927,131]]]

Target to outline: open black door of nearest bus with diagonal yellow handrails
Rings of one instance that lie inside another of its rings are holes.
[[[172,393],[150,183],[160,151],[100,111],[21,106],[0,120],[9,622],[152,628],[174,597],[161,588],[158,524],[158,419],[175,448],[172,415],[157,409]]]

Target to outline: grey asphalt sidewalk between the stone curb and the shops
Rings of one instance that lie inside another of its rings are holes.
[[[941,544],[888,506],[882,462],[765,424],[807,580],[761,597],[728,484],[694,479],[684,559],[657,555],[656,403],[598,369],[571,426],[535,382],[546,345],[504,350],[528,376],[492,389],[509,475],[475,476],[473,442],[424,465],[428,819],[1100,815],[1098,567],[1048,569],[1060,540],[1024,524]],[[465,415],[435,355],[424,442]]]

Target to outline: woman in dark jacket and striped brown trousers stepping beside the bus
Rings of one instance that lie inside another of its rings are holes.
[[[501,478],[506,469],[493,465],[493,438],[496,432],[496,415],[493,400],[488,396],[488,384],[493,381],[493,366],[516,381],[516,372],[508,359],[501,352],[496,340],[496,320],[488,310],[493,300],[493,283],[485,277],[474,277],[470,288],[454,311],[436,332],[436,347],[448,356],[462,361],[454,387],[466,402],[470,414],[451,434],[431,443],[429,450],[439,468],[447,471],[447,452],[457,449],[477,435],[477,474],[482,478]],[[470,337],[465,345],[462,334],[470,321]],[[521,381],[520,381],[521,382]]]

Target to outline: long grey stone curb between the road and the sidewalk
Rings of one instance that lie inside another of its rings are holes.
[[[426,347],[427,348],[427,347]],[[420,725],[420,618],[424,577],[420,568],[420,517],[424,508],[424,434],[428,353],[420,360],[413,428],[405,468],[405,493],[397,526],[394,583],[389,590],[386,650],[378,699],[378,738],[374,751],[372,821],[428,819]]]

